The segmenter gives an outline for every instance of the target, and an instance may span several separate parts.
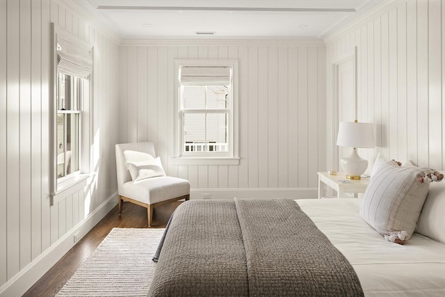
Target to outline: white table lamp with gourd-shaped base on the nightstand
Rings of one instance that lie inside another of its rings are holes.
[[[368,168],[368,160],[357,154],[357,147],[374,147],[374,129],[369,122],[340,122],[337,145],[353,147],[350,156],[341,159],[341,168],[348,179],[360,179],[360,175]]]

